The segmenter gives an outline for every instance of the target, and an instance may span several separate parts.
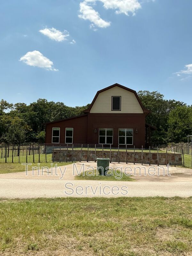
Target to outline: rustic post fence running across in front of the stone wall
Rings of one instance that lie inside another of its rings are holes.
[[[178,165],[178,154],[172,154],[168,148],[154,147],[149,149],[129,148],[128,145],[102,144],[20,144],[0,145],[0,163],[54,163],[54,162],[96,162],[97,157],[108,157],[110,162],[133,164]],[[178,152],[180,153],[180,152]],[[184,151],[181,152],[181,154]],[[189,164],[182,154],[182,161]],[[188,166],[190,167],[190,166]]]

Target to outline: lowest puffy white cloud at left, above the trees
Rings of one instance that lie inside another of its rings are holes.
[[[27,52],[24,56],[20,58],[20,61],[23,61],[29,66],[58,71],[58,69],[53,68],[53,62],[43,56],[43,54],[39,51]]]

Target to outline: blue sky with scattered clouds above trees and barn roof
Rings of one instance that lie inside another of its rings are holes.
[[[6,0],[0,6],[4,100],[82,106],[119,83],[192,104],[192,1]],[[47,36],[52,28],[57,40]]]

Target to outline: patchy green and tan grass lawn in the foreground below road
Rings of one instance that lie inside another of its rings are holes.
[[[0,200],[2,255],[192,255],[192,198]]]

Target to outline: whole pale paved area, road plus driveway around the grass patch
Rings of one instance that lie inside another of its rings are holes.
[[[192,170],[170,167],[169,170],[152,166],[154,172],[148,173],[148,165],[110,164],[112,168],[130,167],[133,170],[130,181],[97,181],[74,180],[76,170],[84,165],[87,168],[96,167],[96,163],[76,163],[62,166],[60,169],[29,171],[0,174],[0,197],[2,198],[37,198],[37,197],[117,197],[117,196],[192,196]],[[138,168],[137,168],[138,167]],[[141,169],[141,167],[144,167]],[[59,168],[59,167],[58,167]],[[128,168],[130,170],[130,168]],[[134,172],[134,168],[137,168]],[[152,174],[152,175],[151,175]],[[154,175],[153,175],[154,174]],[[169,175],[168,175],[169,174]]]

